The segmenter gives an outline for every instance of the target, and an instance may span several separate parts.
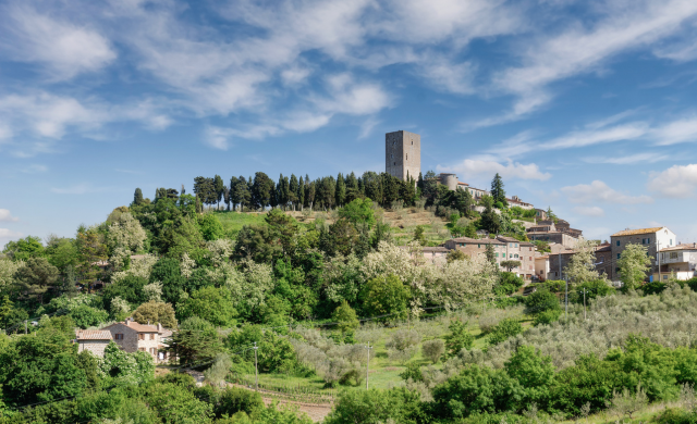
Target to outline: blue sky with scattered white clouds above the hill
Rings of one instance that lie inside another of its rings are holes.
[[[1,0],[0,246],[136,187],[384,171],[697,241],[695,0]]]

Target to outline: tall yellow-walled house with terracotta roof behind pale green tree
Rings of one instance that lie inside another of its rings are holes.
[[[652,259],[651,273],[657,272],[658,262],[657,253],[659,250],[671,248],[677,245],[675,233],[667,227],[652,227],[639,229],[624,229],[610,236],[610,245],[612,246],[612,260],[614,262],[614,274],[620,272],[616,261],[622,258],[622,252],[627,245],[641,245],[647,248],[648,255]]]

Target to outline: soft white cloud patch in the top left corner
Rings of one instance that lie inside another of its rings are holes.
[[[117,58],[110,42],[94,29],[53,20],[26,4],[4,11],[11,18],[5,29],[14,40],[3,50],[15,60],[46,64],[52,79],[97,71]]]

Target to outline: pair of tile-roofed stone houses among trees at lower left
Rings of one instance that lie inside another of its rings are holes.
[[[152,360],[164,362],[168,360],[167,347],[172,331],[162,327],[161,324],[138,324],[133,319],[108,325],[101,329],[75,331],[77,351],[88,350],[97,357],[105,356],[105,349],[113,341],[122,350],[133,352],[146,352]]]

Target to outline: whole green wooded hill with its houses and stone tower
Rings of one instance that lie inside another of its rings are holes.
[[[498,174],[484,189],[423,173],[408,132],[386,135],[380,173],[199,176],[193,194],[152,200],[137,188],[75,237],[4,246],[0,423],[683,408],[697,383],[697,246],[677,240],[665,227],[588,240]],[[678,415],[665,423],[693,416],[667,411]]]

